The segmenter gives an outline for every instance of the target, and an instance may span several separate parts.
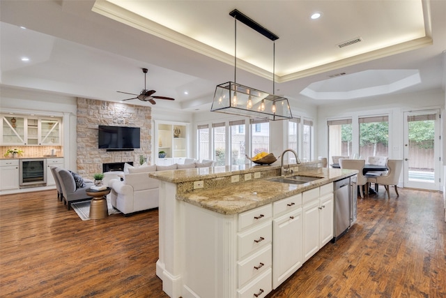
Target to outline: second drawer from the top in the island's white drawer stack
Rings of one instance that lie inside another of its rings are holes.
[[[245,258],[246,255],[258,248],[271,244],[272,242],[272,223],[268,221],[251,230],[238,234],[238,260]]]

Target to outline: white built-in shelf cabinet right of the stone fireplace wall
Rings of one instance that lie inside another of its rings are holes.
[[[187,158],[189,152],[188,130],[189,124],[183,122],[155,121],[155,160],[156,164],[170,165],[180,162],[180,158]],[[164,157],[159,152],[164,151]],[[164,162],[163,162],[164,160]]]

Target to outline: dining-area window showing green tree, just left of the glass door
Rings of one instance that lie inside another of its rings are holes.
[[[360,156],[388,156],[389,117],[363,117],[360,124]]]

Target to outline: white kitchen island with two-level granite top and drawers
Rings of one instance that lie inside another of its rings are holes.
[[[280,167],[153,172],[160,180],[157,276],[170,297],[265,297],[333,237],[332,182],[355,170],[294,165],[318,177],[271,181]]]

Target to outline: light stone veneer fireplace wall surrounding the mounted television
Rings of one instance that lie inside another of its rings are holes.
[[[152,108],[109,101],[77,98],[77,172],[93,177],[102,172],[102,163],[132,161],[139,165],[139,156],[151,164]],[[98,125],[141,128],[141,148],[134,151],[98,149]]]

